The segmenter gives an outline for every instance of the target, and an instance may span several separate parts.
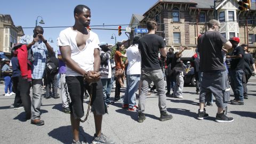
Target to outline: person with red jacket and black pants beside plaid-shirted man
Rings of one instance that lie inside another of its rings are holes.
[[[31,118],[31,98],[30,85],[32,81],[31,76],[31,62],[28,59],[28,53],[31,50],[27,49],[27,45],[18,44],[13,47],[12,68],[13,68],[13,83],[15,84],[16,95],[14,99],[14,109],[24,107],[26,113],[26,120]],[[29,51],[29,52],[28,52]],[[19,104],[22,102],[22,105]]]

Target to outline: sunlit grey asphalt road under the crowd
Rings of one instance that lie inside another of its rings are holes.
[[[166,98],[167,111],[173,115],[170,121],[158,120],[158,97],[151,94],[147,99],[143,123],[137,122],[138,113],[126,111],[121,108],[122,103],[115,103],[109,106],[109,114],[103,116],[102,132],[116,143],[255,143],[255,80],[256,77],[249,80],[249,99],[245,100],[244,106],[228,104],[228,116],[235,119],[232,123],[214,121],[217,113],[215,103],[206,107],[208,119],[196,119],[199,95],[195,94],[195,87],[184,87],[183,99]],[[4,94],[4,85],[0,85],[0,93]],[[113,97],[114,91],[111,93]],[[42,99],[43,126],[25,121],[24,110],[14,110],[13,101],[14,95],[0,96],[0,143],[71,143],[70,118],[69,114],[62,112],[61,99]],[[86,103],[84,107],[87,108]],[[81,124],[80,139],[91,143],[94,131],[93,114],[90,114],[89,119]]]

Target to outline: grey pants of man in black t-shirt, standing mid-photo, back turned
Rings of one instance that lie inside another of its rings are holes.
[[[139,98],[139,112],[144,113],[146,106],[146,98],[148,94],[148,84],[153,82],[159,95],[158,107],[160,111],[166,111],[166,95],[164,75],[161,69],[157,70],[141,70],[141,94]]]

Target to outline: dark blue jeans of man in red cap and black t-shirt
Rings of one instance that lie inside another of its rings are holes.
[[[244,101],[244,88],[242,83],[242,76],[244,71],[240,70],[230,70],[230,84],[234,92],[235,99],[239,101]]]

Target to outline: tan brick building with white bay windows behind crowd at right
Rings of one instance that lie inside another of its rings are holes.
[[[241,43],[248,43],[252,52],[255,42],[255,2],[251,11],[238,10],[237,0],[222,0],[215,3],[216,15],[220,23],[220,33],[227,39],[237,36]],[[159,0],[143,15],[133,14],[130,27],[146,28],[146,21],[154,19],[159,23],[158,35],[163,36],[166,47],[186,45],[196,47],[197,36],[207,30],[206,22],[214,19],[213,0]],[[247,21],[247,24],[246,24]],[[136,35],[131,34],[132,39]]]

